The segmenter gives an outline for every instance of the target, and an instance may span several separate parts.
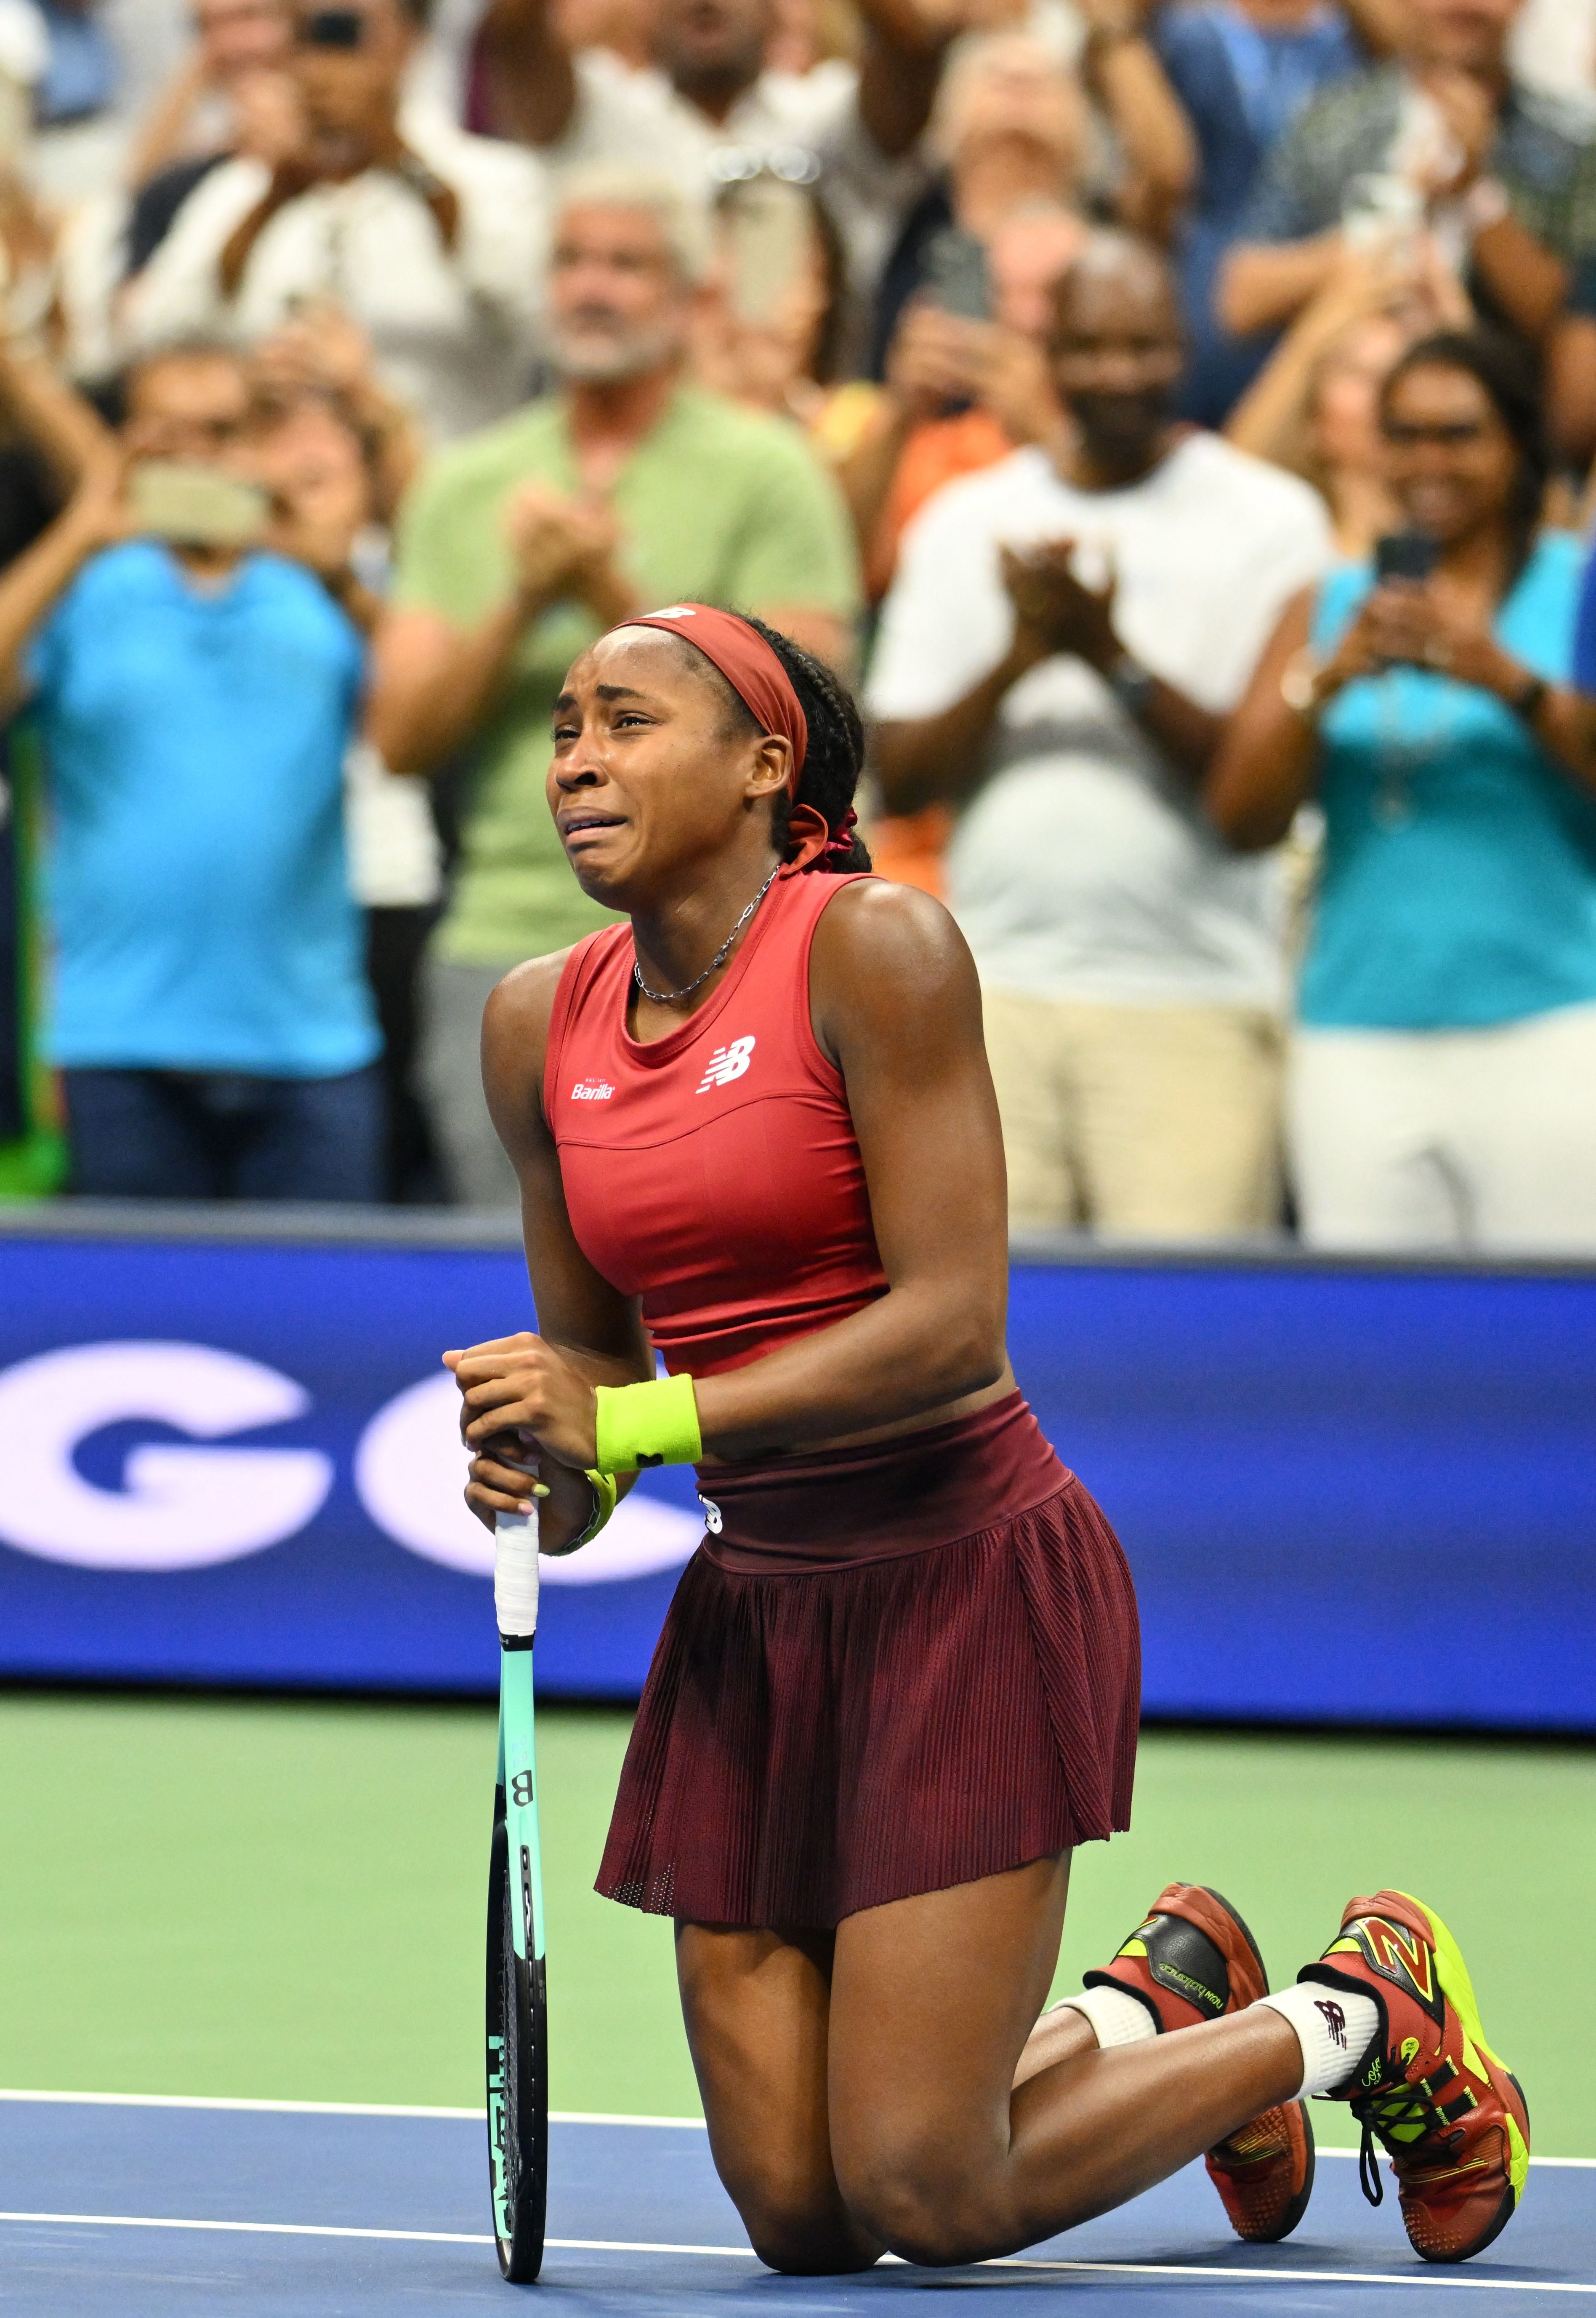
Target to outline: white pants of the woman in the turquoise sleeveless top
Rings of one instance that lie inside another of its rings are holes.
[[[1311,1247],[1596,1254],[1596,1006],[1297,1029],[1286,1127]]]

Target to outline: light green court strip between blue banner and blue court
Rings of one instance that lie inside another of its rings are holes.
[[[551,2098],[688,2116],[669,1924],[591,1891],[625,1732],[540,1715]],[[479,2100],[491,1778],[479,1706],[0,1694],[0,2084]],[[1172,1878],[1223,1889],[1276,1980],[1399,1885],[1459,1936],[1536,2146],[1596,2156],[1568,2010],[1591,1827],[1589,1748],[1149,1732],[1133,1834],[1077,1859],[1059,1989]]]

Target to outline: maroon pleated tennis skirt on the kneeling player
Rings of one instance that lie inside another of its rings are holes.
[[[1130,1824],[1130,1572],[1019,1393],[702,1486],[607,1898],[829,1929]]]

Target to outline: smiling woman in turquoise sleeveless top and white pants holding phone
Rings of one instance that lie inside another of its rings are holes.
[[[1207,800],[1239,848],[1276,844],[1313,793],[1325,816],[1290,1076],[1302,1231],[1591,1254],[1580,549],[1538,529],[1538,396],[1503,341],[1422,338],[1385,380],[1381,427],[1411,531],[1388,542],[1388,577],[1346,563],[1286,610]]]

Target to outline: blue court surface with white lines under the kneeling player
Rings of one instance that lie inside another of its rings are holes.
[[[1063,2295],[1093,2318],[1420,2318],[1485,2295],[1480,2318],[1510,2318],[1545,2313],[1547,2295],[1596,2297],[1594,2163],[1536,2160],[1524,2211],[1466,2269],[1413,2260],[1394,2197],[1371,2211],[1353,2160],[1330,2153],[1283,2246],[1239,2246],[1188,2167],[1024,2258],[778,2279],[748,2251],[700,2126],[561,2116],[551,2142],[549,2251],[542,2281],[521,2293],[572,2318],[843,2318],[924,2293],[964,2295],[966,2309],[991,2295],[1003,2318],[1040,2318]],[[482,2119],[456,2109],[7,2093],[0,2304],[16,2318],[505,2309],[517,2288],[500,2283],[486,2235],[484,2151]]]

